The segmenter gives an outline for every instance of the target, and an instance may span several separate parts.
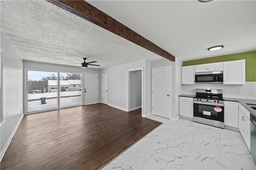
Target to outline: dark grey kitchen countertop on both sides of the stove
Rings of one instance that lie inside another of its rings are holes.
[[[195,95],[186,95],[182,94],[179,95],[180,97],[195,97]],[[250,99],[236,99],[236,98],[228,98],[228,97],[223,97],[224,101],[235,101],[239,102],[245,109],[247,109],[254,117],[256,117],[256,110],[252,109],[250,106],[246,105],[248,104],[255,104],[256,105],[256,100],[250,100]],[[225,106],[224,106],[225,107]]]

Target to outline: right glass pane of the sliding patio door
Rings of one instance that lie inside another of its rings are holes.
[[[60,107],[82,104],[80,73],[60,72]]]

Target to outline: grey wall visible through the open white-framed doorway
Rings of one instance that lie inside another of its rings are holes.
[[[142,70],[130,71],[130,108],[141,107]]]

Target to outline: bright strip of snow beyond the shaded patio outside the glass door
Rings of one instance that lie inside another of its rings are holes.
[[[60,92],[60,97],[76,96],[76,95],[81,95],[81,91],[61,91]],[[58,97],[58,92],[28,94],[28,100],[33,100],[33,99],[40,100],[40,97],[46,97],[46,99],[50,97]]]

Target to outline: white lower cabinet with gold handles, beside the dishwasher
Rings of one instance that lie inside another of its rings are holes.
[[[239,130],[250,150],[250,112],[239,104]]]

